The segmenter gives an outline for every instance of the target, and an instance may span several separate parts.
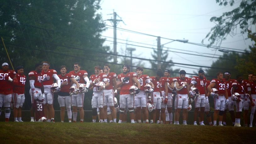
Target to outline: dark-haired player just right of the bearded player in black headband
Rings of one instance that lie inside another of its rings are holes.
[[[148,123],[148,110],[147,110],[147,96],[144,91],[144,86],[146,84],[149,84],[152,88],[148,92],[153,92],[154,91],[154,85],[150,81],[150,78],[148,75],[143,75],[143,68],[142,67],[137,67],[136,68],[137,72],[137,79],[140,83],[141,86],[141,91],[137,94],[135,94],[134,98],[134,105],[136,107],[135,109],[135,116],[138,120],[138,123],[141,123],[141,111],[142,111],[142,116],[143,116],[143,123]]]

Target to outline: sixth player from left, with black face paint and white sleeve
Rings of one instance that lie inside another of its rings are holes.
[[[86,90],[84,92],[88,91],[88,88],[90,86],[90,80],[88,78],[88,73],[85,70],[80,70],[81,66],[79,63],[74,63],[74,70],[70,71],[69,74],[73,75],[75,80],[79,84],[84,84],[86,82]],[[73,84],[72,86],[74,86]],[[80,122],[84,122],[84,92],[80,92],[77,94],[73,94],[71,97],[71,105],[73,108],[73,122],[76,122],[77,118],[77,109],[79,110],[80,115]]]

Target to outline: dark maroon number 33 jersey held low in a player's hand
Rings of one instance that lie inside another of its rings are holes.
[[[42,100],[39,100],[39,99],[34,100],[33,108],[35,109],[35,119],[36,119],[36,121],[38,121],[38,119],[44,117],[43,99]]]

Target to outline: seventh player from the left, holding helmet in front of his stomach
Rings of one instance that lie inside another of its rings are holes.
[[[90,87],[93,87],[92,94],[92,122],[96,122],[97,118],[97,108],[100,111],[100,122],[108,122],[107,111],[103,110],[103,103],[105,99],[104,89],[109,86],[109,82],[107,80],[107,75],[104,73],[100,73],[100,66],[94,67],[95,75],[90,76]],[[100,83],[103,82],[103,83]],[[113,100],[114,103],[114,100]],[[104,121],[103,121],[104,119]]]

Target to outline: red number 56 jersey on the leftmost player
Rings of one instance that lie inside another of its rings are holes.
[[[13,84],[12,82],[5,80],[5,76],[10,76],[10,78],[14,78],[16,72],[14,70],[3,71],[0,69],[0,93],[4,95],[8,95],[13,93]]]

